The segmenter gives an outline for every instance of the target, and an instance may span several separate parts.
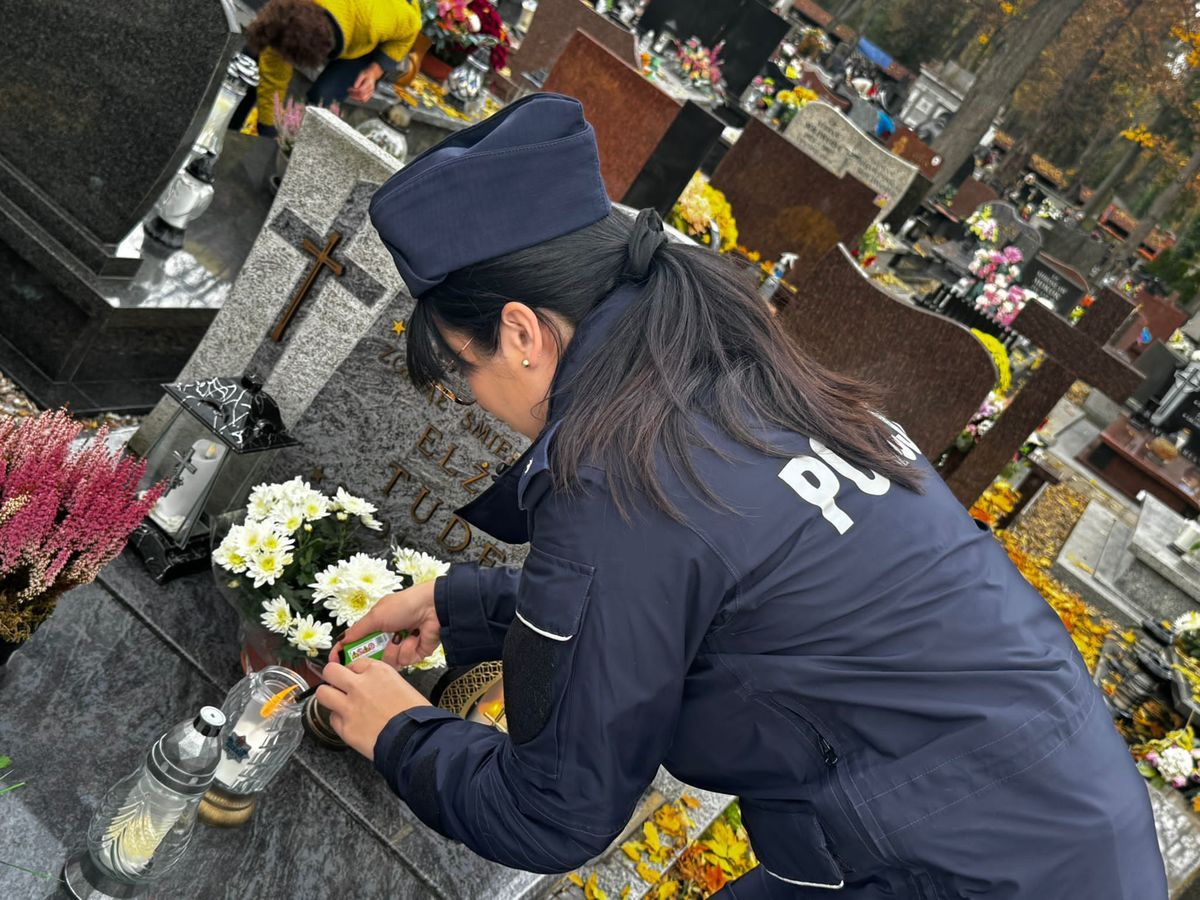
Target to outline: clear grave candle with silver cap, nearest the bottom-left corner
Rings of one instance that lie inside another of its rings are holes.
[[[220,709],[204,707],[158,738],[145,762],[104,796],[88,827],[88,850],[64,872],[76,898],[137,896],[180,860],[212,784],[223,725]]]

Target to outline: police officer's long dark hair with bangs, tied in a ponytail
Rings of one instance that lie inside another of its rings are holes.
[[[607,218],[545,244],[450,275],[416,304],[408,328],[408,371],[427,389],[448,365],[469,370],[438,325],[494,353],[500,310],[511,300],[544,323],[554,313],[572,328],[631,281],[628,216]],[[708,499],[692,451],[706,446],[697,415],[744,446],[786,458],[763,437],[774,427],[816,438],[839,456],[919,490],[920,474],[896,454],[890,428],[872,412],[866,385],[818,366],[780,330],[743,266],[694,245],[671,242],[652,258],[638,295],[610,338],[581,366],[551,455],[556,486],[576,482],[581,466],[608,473],[618,508],[643,493],[678,517],[659,474],[660,451]]]

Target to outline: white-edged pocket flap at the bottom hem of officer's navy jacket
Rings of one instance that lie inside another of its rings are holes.
[[[821,821],[814,814],[743,800],[742,822],[758,862],[780,881],[829,890],[845,886],[841,868],[829,851]]]

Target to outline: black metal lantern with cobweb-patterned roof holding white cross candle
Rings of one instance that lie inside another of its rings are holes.
[[[160,583],[208,564],[212,523],[242,506],[271,457],[296,443],[253,376],[163,389],[179,406],[146,454],[142,488],[166,481],[167,492],[130,536]]]

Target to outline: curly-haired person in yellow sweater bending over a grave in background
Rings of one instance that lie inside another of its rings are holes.
[[[323,67],[310,103],[362,103],[376,82],[396,72],[420,31],[416,0],[270,0],[246,29],[260,76],[258,133],[275,133],[275,97],[286,98],[293,66]]]

